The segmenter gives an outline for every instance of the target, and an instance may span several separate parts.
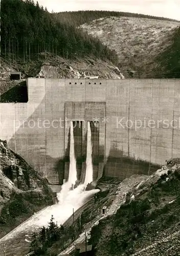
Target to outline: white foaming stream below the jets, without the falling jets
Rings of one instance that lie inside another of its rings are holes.
[[[42,226],[48,227],[52,215],[55,219],[54,221],[57,222],[58,225],[63,224],[73,214],[73,208],[74,211],[76,211],[92,198],[94,194],[99,192],[99,189],[92,189],[89,191],[85,191],[84,189],[84,184],[81,184],[77,188],[67,191],[62,202],[48,206],[37,212],[37,214],[33,215],[28,221],[22,223],[10,232],[4,239],[2,239],[2,241],[8,240],[20,232],[29,233]],[[61,198],[61,192],[58,193],[57,198]]]

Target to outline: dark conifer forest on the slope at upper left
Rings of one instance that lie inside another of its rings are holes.
[[[1,1],[1,53],[10,62],[49,52],[64,58],[97,57],[117,62],[115,51],[99,39],[79,31],[68,22],[57,21],[33,0]]]

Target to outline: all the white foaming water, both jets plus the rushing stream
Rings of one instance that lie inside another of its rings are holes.
[[[75,189],[72,189],[72,184],[75,184],[77,179],[76,159],[74,154],[74,135],[73,122],[71,122],[71,145],[70,145],[70,172],[69,180],[62,185],[60,193],[57,194],[58,203],[48,206],[37,212],[29,220],[22,223],[20,226],[11,231],[7,236],[0,241],[6,241],[15,237],[19,233],[30,233],[38,230],[40,227],[48,227],[51,216],[58,225],[63,224],[72,214],[73,208],[76,211],[85,202],[99,192],[99,189],[85,191],[86,185],[93,181],[93,165],[92,165],[92,143],[91,143],[91,127],[88,122],[87,127],[87,159],[86,159],[86,175],[84,184],[80,184]]]

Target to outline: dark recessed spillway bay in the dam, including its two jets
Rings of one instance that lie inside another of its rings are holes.
[[[73,140],[72,140],[73,137]],[[72,148],[73,146],[73,148]],[[74,169],[77,172],[77,183],[84,183],[87,168],[91,162],[92,181],[96,181],[99,171],[99,122],[72,120],[68,134],[68,147],[64,164],[64,180],[68,180],[71,166],[71,151],[74,151]],[[87,154],[88,153],[88,154]],[[91,155],[91,160],[89,156]],[[88,165],[88,166],[87,166]],[[90,178],[89,178],[90,179]]]

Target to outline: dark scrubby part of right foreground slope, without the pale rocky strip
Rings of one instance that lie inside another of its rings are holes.
[[[179,255],[179,195],[180,158],[170,159],[131,189],[115,215],[92,228],[95,255]]]

